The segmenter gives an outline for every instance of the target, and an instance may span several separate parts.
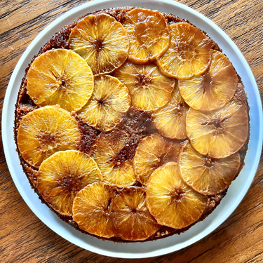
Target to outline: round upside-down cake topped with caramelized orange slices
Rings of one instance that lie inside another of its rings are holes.
[[[32,58],[15,143],[61,220],[104,240],[153,241],[219,205],[244,166],[248,113],[241,77],[205,32],[112,8],[63,27]]]

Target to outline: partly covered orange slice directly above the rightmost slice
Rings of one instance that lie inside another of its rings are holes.
[[[229,59],[213,50],[208,72],[188,80],[180,80],[179,88],[185,102],[193,109],[210,111],[223,107],[236,92],[238,76]]]

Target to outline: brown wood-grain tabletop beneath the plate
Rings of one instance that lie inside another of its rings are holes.
[[[87,0],[1,0],[0,104],[29,43],[55,18]],[[262,0],[181,0],[213,20],[248,61],[263,95]],[[212,234],[178,252],[149,259],[115,259],[61,238],[27,207],[15,188],[0,142],[0,262],[262,262],[263,156],[248,194]]]

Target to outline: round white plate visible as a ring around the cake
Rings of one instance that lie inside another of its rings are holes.
[[[154,257],[185,248],[187,245],[191,245],[210,234],[231,215],[248,191],[256,173],[262,150],[263,123],[262,104],[255,79],[245,58],[243,58],[240,50],[238,50],[236,45],[229,39],[227,34],[222,32],[222,30],[212,21],[208,20],[208,18],[205,18],[200,13],[176,1],[133,0],[133,6],[141,6],[156,9],[161,12],[173,13],[173,15],[189,20],[196,25],[196,27],[207,32],[208,35],[219,44],[220,48],[222,48],[223,52],[233,63],[236,71],[245,84],[245,92],[248,94],[248,103],[250,105],[251,135],[249,149],[245,156],[245,166],[240,175],[238,175],[238,178],[229,187],[227,196],[224,197],[219,207],[203,222],[198,222],[194,227],[191,227],[189,231],[180,235],[144,243],[113,243],[112,241],[101,241],[98,238],[81,234],[81,232],[70,227],[69,224],[62,222],[55,213],[51,212],[46,205],[39,201],[38,196],[30,188],[27,177],[20,166],[18,154],[15,151],[13,121],[15,102],[21,79],[24,76],[25,68],[33,56],[38,53],[41,46],[62,27],[68,25],[85,13],[104,8],[130,6],[130,4],[131,2],[128,0],[100,0],[88,2],[87,4],[83,4],[82,6],[68,11],[60,18],[53,21],[46,29],[36,36],[36,39],[32,41],[20,58],[8,84],[4,100],[2,136],[6,162],[8,163],[8,168],[15,182],[15,186],[18,188],[18,191],[29,208],[44,224],[67,239],[67,241],[79,245],[79,247],[85,248],[86,250],[110,257],[140,258]]]

